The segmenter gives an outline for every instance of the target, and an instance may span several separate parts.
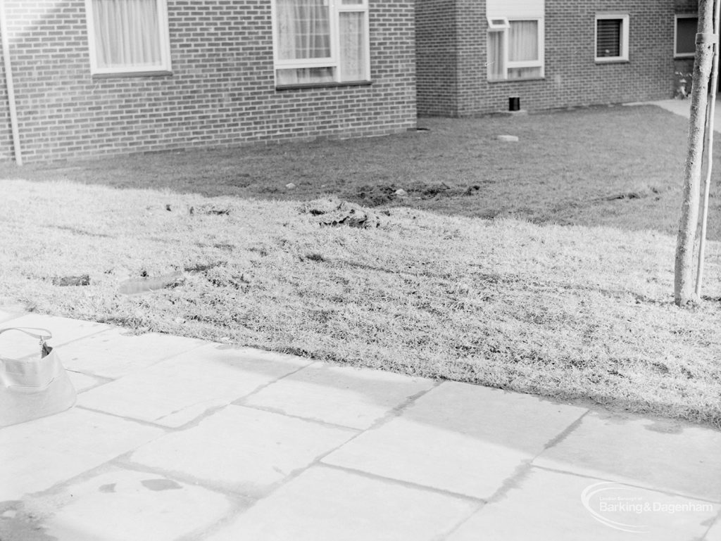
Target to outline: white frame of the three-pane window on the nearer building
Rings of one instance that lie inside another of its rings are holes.
[[[273,76],[277,78],[278,70],[300,69],[300,68],[333,68],[332,84],[358,83],[371,80],[371,30],[368,0],[358,0],[356,4],[343,4],[342,0],[325,0],[329,6],[330,16],[330,56],[327,58],[293,58],[281,60],[278,58],[278,19],[276,14],[275,0],[271,0],[271,14],[273,20]],[[366,79],[360,81],[341,81],[340,79],[340,14],[341,13],[363,13],[363,25],[366,30]],[[329,83],[291,84],[276,86],[324,86]]]

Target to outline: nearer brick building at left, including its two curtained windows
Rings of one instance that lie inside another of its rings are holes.
[[[412,0],[0,7],[0,161],[14,131],[30,162],[415,127]]]

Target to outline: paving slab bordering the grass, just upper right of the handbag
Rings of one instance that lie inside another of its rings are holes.
[[[133,336],[123,328],[110,328],[66,344],[62,358],[68,370],[117,379],[203,344],[207,342],[158,333]]]

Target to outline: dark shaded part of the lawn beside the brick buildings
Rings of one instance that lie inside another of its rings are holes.
[[[0,178],[263,200],[337,195],[366,207],[676,234],[688,133],[682,117],[653,106],[599,107],[419,124],[429,130],[22,170],[0,166]],[[499,134],[518,135],[520,142],[503,143]],[[291,182],[296,188],[286,189]],[[397,189],[407,196],[395,195]],[[709,238],[721,240],[718,197],[710,217]]]

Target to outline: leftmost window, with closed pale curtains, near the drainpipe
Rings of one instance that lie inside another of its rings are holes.
[[[85,0],[90,71],[170,71],[165,0]]]

